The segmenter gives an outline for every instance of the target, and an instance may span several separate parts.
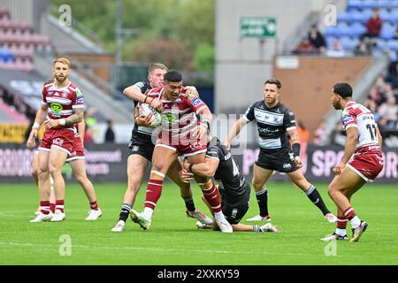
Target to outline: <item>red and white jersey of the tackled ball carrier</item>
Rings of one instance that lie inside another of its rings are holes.
[[[164,87],[152,88],[146,92],[147,96],[160,98]],[[195,126],[199,125],[196,114],[204,109],[209,109],[198,96],[186,94],[186,88],[182,88],[180,96],[174,100],[161,100],[164,111],[162,112],[162,125],[160,129],[167,132],[170,137],[186,135]]]

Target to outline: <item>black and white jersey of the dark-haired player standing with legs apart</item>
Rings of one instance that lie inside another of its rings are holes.
[[[265,151],[290,150],[287,131],[295,129],[295,114],[284,104],[278,103],[268,108],[264,100],[253,103],[244,117],[251,122],[256,120],[258,144]]]

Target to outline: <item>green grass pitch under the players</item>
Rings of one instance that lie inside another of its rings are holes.
[[[290,183],[269,184],[272,223],[281,233],[233,233],[198,230],[187,218],[179,190],[166,184],[149,231],[127,219],[123,233],[112,233],[126,184],[96,184],[103,217],[84,218],[88,201],[79,185],[67,184],[66,220],[62,223],[29,223],[38,204],[34,185],[0,186],[0,264],[398,264],[398,194],[396,186],[371,184],[353,198],[368,230],[359,242],[339,241],[326,246],[319,241],[332,233],[329,224],[307,196]],[[196,207],[208,210],[193,187]],[[326,185],[318,185],[325,203],[334,206]],[[134,208],[142,210],[145,187]],[[252,192],[245,218],[258,209]],[[242,223],[249,224],[242,221]],[[348,225],[349,226],[349,225]],[[71,240],[71,255],[61,256],[62,235]],[[350,236],[351,233],[349,232]],[[326,250],[326,252],[325,252]],[[329,256],[326,256],[329,255]]]

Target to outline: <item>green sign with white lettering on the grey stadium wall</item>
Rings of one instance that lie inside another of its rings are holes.
[[[242,17],[241,37],[275,37],[276,19],[264,17]]]

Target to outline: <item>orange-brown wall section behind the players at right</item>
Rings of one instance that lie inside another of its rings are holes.
[[[371,62],[370,57],[298,57],[296,69],[280,69],[273,60],[273,76],[282,82],[280,100],[295,112],[312,134],[332,109],[330,93],[338,81],[352,84]]]

